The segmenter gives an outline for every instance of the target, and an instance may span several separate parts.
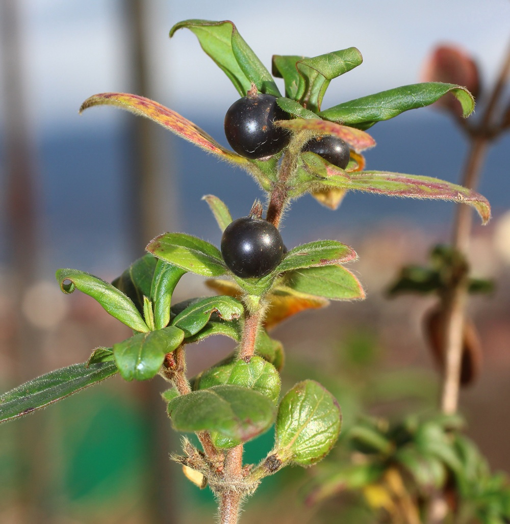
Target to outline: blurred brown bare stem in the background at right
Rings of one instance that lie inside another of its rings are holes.
[[[510,49],[506,53],[500,75],[485,108],[480,125],[470,130],[471,148],[464,167],[462,185],[474,189],[478,183],[490,140],[494,138],[491,125],[494,112],[500,101],[508,75],[510,74]],[[452,245],[461,253],[469,250],[472,227],[472,212],[466,204],[457,207],[453,228]],[[445,369],[441,395],[441,410],[455,413],[459,401],[460,371],[462,361],[465,303],[467,301],[467,279],[462,278],[452,286],[444,298],[446,312],[444,317],[443,347],[445,348]]]

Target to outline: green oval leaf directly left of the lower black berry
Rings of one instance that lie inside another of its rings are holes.
[[[219,277],[226,272],[218,248],[185,233],[164,233],[146,247],[149,253],[191,273]]]

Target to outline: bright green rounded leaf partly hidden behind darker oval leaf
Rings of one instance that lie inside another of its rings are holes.
[[[276,402],[280,394],[281,382],[276,368],[262,357],[255,355],[249,362],[237,358],[207,369],[200,375],[197,389],[207,389],[221,384],[253,389]]]

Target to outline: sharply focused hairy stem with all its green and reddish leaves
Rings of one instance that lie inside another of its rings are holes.
[[[472,205],[483,223],[490,218],[490,206],[480,194],[450,182],[364,169],[362,152],[375,145],[366,132],[368,128],[404,111],[430,105],[447,93],[457,98],[463,116],[467,116],[474,101],[462,86],[413,84],[324,109],[322,99],[330,81],[361,64],[362,56],[356,48],[313,58],[275,55],[273,75],[283,78],[285,84],[285,93],[281,94],[273,76],[231,21],[186,20],[176,24],[170,36],[185,28],[197,36],[203,50],[248,103],[256,106],[262,100],[259,95],[272,97],[265,96],[264,100],[274,100],[273,110],[283,117],[264,125],[285,133],[279,151],[257,158],[237,154],[185,117],[139,95],[100,93],[85,100],[80,111],[95,105],[122,107],[246,170],[265,195],[267,206],[263,219],[263,205],[256,201],[251,210],[246,210],[247,220],[242,223],[257,228],[263,223],[265,230],[269,228],[269,237],[278,241],[279,254],[264,271],[257,270],[257,257],[255,262],[252,258],[255,270],[248,272],[249,276],[240,276],[245,274],[232,265],[232,243],[253,241],[249,245],[258,246],[257,256],[263,259],[265,248],[257,242],[264,243],[266,236],[257,230],[252,238],[251,233],[236,228],[234,240],[225,241],[225,235],[240,219],[232,219],[220,198],[206,195],[204,199],[223,232],[221,250],[185,233],[164,233],[151,240],[147,254],[113,283],[80,270],[58,270],[57,280],[64,293],[78,289],[90,295],[129,326],[133,336],[113,347],[96,348],[83,364],[58,369],[8,391],[0,397],[0,420],[18,418],[117,374],[128,381],[158,375],[168,384],[162,398],[172,427],[195,433],[201,445],[198,449],[184,437],[183,454],[174,455],[173,460],[182,465],[192,482],[212,489],[218,499],[220,521],[234,523],[242,500],[264,477],[290,464],[306,467],[322,460],[341,428],[337,400],[316,381],[303,377],[280,395],[283,346],[268,331],[289,316],[322,308],[330,300],[364,298],[360,281],[344,265],[356,258],[351,247],[318,240],[287,250],[283,241],[279,243],[278,226],[290,202],[310,193],[321,204],[335,209],[350,190],[443,199]],[[333,137],[348,147],[349,160],[344,168],[309,147],[312,140],[320,143],[324,137]],[[172,293],[187,272],[206,277],[207,285],[220,294],[173,303]],[[234,339],[237,350],[189,378],[187,345],[212,335]],[[273,425],[273,449],[261,463],[244,464],[244,443]]]

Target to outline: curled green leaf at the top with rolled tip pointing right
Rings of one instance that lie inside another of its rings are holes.
[[[320,111],[330,81],[362,62],[363,57],[355,47],[299,60],[296,63],[300,74],[296,98],[311,111]]]

